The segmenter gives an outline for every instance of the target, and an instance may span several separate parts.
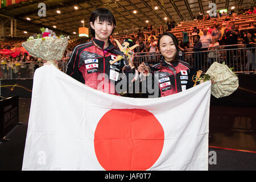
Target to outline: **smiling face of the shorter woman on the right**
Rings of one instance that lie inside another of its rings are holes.
[[[177,49],[174,44],[174,40],[168,35],[162,36],[159,43],[159,48],[161,54],[164,56],[164,59],[167,62],[170,62],[175,59]]]

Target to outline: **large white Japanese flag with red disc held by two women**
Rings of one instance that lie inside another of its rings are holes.
[[[22,170],[208,170],[210,86],[128,98],[40,67]]]

